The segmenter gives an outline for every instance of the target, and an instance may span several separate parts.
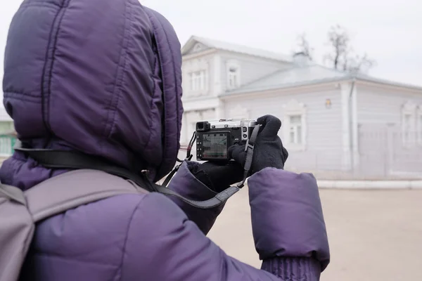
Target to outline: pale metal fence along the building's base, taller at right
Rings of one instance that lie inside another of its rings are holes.
[[[402,131],[393,126],[360,126],[357,148],[352,156],[350,151],[338,148],[293,151],[286,169],[337,180],[422,178],[422,132]]]

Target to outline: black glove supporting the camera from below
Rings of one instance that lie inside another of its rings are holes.
[[[237,162],[205,162],[191,173],[215,192],[222,192],[230,185],[243,181],[243,166]]]

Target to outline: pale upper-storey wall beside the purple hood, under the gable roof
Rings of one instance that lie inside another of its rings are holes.
[[[240,67],[241,85],[289,67],[287,63],[226,51],[206,50],[186,56],[182,64],[182,100],[185,110],[181,129],[182,144],[186,144],[191,138],[195,122],[217,119],[224,115],[223,103],[218,96],[227,89],[229,63],[236,63]],[[200,70],[207,73],[206,87],[201,91],[191,91],[189,75]]]

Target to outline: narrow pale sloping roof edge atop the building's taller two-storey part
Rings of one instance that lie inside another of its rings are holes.
[[[292,61],[292,58],[290,58],[290,56],[283,55],[281,53],[274,53],[259,48],[250,48],[248,46],[197,36],[192,36],[190,39],[188,39],[186,44],[184,44],[184,46],[181,48],[182,55],[185,55],[188,51],[190,51],[193,45],[195,45],[197,42],[207,46],[208,48],[216,48],[219,50],[231,51],[234,53],[243,53],[245,55],[254,55],[260,58],[269,58],[271,60],[281,60],[286,62]]]

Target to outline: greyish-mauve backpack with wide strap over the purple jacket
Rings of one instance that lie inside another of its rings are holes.
[[[147,193],[132,181],[81,169],[55,176],[23,192],[0,185],[0,281],[16,281],[36,223],[84,204],[127,193]]]

